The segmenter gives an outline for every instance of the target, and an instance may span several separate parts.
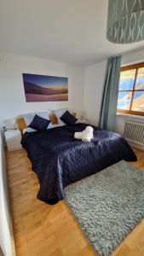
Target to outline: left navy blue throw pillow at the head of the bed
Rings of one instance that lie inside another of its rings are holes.
[[[44,131],[47,130],[50,121],[48,119],[43,119],[39,115],[35,114],[34,119],[32,120],[31,124],[27,127],[35,129],[37,131]]]

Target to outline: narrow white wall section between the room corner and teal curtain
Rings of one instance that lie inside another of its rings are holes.
[[[101,61],[85,68],[84,113],[94,125],[97,125],[99,119],[106,63]]]

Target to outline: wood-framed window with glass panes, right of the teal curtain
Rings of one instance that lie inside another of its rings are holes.
[[[117,108],[118,113],[144,115],[144,63],[121,68]]]

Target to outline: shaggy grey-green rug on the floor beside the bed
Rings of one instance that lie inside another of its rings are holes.
[[[72,183],[66,203],[95,252],[107,256],[144,218],[144,172],[124,160]]]

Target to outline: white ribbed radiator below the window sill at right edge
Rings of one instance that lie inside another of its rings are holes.
[[[131,143],[144,145],[144,124],[126,121],[124,124],[124,137]]]

